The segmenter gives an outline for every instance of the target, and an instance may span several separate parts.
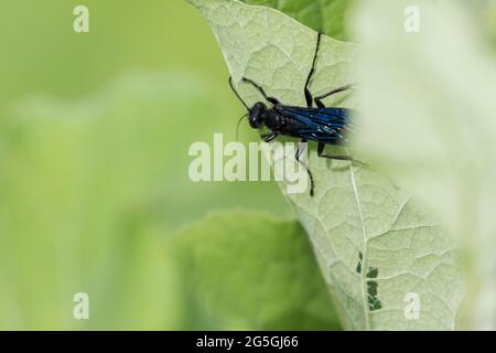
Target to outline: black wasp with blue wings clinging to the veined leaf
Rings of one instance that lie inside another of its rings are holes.
[[[277,98],[273,98],[266,94],[265,89],[256,84],[254,81],[244,77],[242,82],[252,85],[269,101],[272,107],[268,108],[263,101],[256,103],[251,108],[241,99],[236,88],[233,85],[233,78],[229,78],[230,87],[236,96],[248,109],[248,121],[254,129],[262,129],[267,127],[270,133],[263,136],[266,142],[270,142],[278,136],[296,137],[301,139],[299,148],[296,149],[295,159],[300,161],[300,156],[303,147],[308,140],[316,141],[317,154],[322,158],[348,160],[355,161],[349,156],[330,156],[324,153],[325,145],[343,146],[347,142],[346,136],[351,130],[352,119],[351,110],[346,108],[326,108],[322,100],[339,92],[351,89],[353,85],[346,85],[336,89],[333,89],[319,97],[313,97],[309,89],[310,82],[315,73],[315,62],[319,55],[319,49],[321,44],[322,33],[319,33],[315,55],[313,57],[312,68],[304,87],[304,96],[306,99],[306,107],[285,106],[281,104]],[[316,108],[313,108],[313,101],[315,101]],[[246,116],[245,116],[246,117]],[[358,162],[359,163],[359,162]],[[310,194],[313,196],[313,176],[310,170],[305,167],[310,176]]]

